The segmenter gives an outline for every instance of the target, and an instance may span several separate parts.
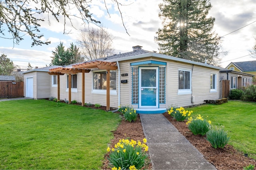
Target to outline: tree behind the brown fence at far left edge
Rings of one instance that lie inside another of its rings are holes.
[[[12,71],[14,71],[15,66],[7,55],[0,55],[0,75],[12,75]]]

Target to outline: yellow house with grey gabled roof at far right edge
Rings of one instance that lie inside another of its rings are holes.
[[[226,69],[256,75],[256,61],[231,62]]]

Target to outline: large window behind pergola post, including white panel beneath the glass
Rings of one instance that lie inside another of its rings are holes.
[[[104,71],[92,72],[92,93],[106,94],[107,89],[107,73]],[[110,95],[117,95],[116,93],[116,70],[110,70]]]

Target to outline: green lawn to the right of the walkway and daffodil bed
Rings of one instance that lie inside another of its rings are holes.
[[[222,105],[201,105],[191,108],[193,116],[202,115],[212,125],[224,125],[228,144],[256,159],[256,103],[228,101]]]

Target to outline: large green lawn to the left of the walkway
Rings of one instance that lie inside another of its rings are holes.
[[[0,169],[100,169],[116,113],[47,100],[0,102]]]

